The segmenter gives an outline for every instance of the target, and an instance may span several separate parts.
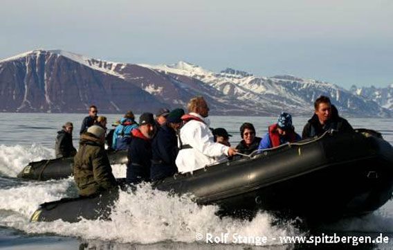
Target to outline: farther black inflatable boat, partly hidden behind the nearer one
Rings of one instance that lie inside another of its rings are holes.
[[[127,163],[127,151],[108,151],[111,164]],[[48,179],[63,179],[73,174],[73,157],[48,159],[28,163],[17,177],[46,181]]]

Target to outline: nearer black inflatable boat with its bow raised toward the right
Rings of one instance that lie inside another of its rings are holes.
[[[192,193],[198,204],[218,204],[234,215],[263,209],[336,220],[375,211],[392,197],[393,148],[372,130],[329,132],[154,185],[159,190]],[[44,203],[31,220],[105,218],[114,199],[113,193],[104,193]]]

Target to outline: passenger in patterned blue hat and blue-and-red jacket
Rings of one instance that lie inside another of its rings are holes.
[[[295,133],[295,127],[292,125],[291,114],[282,112],[277,123],[268,127],[268,132],[259,143],[258,150],[275,148],[285,143],[294,143],[300,139],[300,135]]]

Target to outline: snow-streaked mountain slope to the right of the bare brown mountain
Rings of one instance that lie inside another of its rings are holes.
[[[185,75],[208,84],[233,100],[243,102],[250,111],[264,114],[277,114],[282,110],[292,114],[309,115],[313,110],[313,101],[318,96],[329,96],[342,114],[349,116],[382,116],[392,115],[390,110],[380,107],[376,102],[335,84],[318,80],[296,78],[292,75],[275,75],[260,77],[245,71],[226,69],[214,73],[200,66],[187,62],[172,65],[149,67],[166,75]]]

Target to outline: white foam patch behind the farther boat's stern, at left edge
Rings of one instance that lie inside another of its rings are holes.
[[[40,144],[33,145],[0,145],[0,175],[16,177],[31,161],[40,161],[55,157],[55,150]]]

